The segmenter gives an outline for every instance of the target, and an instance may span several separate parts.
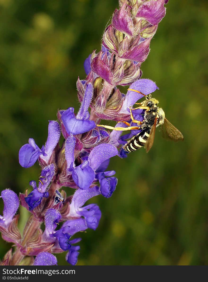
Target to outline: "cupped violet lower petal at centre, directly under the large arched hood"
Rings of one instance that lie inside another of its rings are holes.
[[[81,165],[72,169],[72,178],[80,189],[87,189],[95,179],[95,172],[85,160]]]

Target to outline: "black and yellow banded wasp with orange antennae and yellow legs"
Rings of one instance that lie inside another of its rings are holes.
[[[158,100],[152,98],[151,94],[149,97],[142,92],[135,90],[135,89],[128,89],[131,91],[138,92],[145,96],[145,100],[141,103],[135,103],[140,105],[139,107],[132,108],[130,107],[130,117],[133,123],[136,123],[137,126],[130,126],[130,123],[123,122],[128,127],[112,127],[108,125],[97,125],[101,127],[105,127],[107,129],[113,129],[117,131],[124,131],[124,130],[138,130],[140,129],[141,132],[132,137],[124,146],[123,149],[127,152],[133,152],[141,147],[145,147],[146,152],[148,153],[154,143],[154,136],[155,136],[155,129],[159,125],[162,126],[162,136],[166,140],[172,141],[183,141],[182,133],[174,127],[168,120],[165,118],[165,113],[162,108],[159,108],[157,105],[159,103]],[[144,119],[143,121],[135,120],[132,114],[133,110],[142,109],[144,110]]]

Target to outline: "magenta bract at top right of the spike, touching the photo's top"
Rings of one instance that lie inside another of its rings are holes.
[[[151,25],[157,25],[165,16],[164,4],[166,3],[167,0],[146,1],[139,7],[136,17],[145,19],[151,23]]]

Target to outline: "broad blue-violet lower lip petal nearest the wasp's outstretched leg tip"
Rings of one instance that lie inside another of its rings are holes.
[[[61,115],[63,125],[68,134],[80,134],[96,127],[96,124],[92,120],[78,120],[74,116],[74,108],[68,108]]]

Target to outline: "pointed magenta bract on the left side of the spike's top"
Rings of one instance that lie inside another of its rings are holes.
[[[119,10],[115,10],[112,18],[112,26],[125,34],[132,36],[134,32],[133,21],[125,10],[126,7],[126,3],[124,3]]]

